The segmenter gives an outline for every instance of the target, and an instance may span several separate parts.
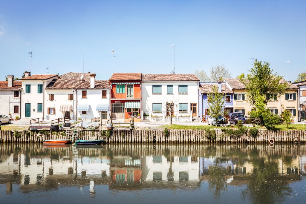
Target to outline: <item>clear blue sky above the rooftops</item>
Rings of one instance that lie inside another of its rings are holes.
[[[5,75],[83,72],[247,73],[251,57],[293,80],[306,70],[305,1],[0,1]],[[292,62],[285,62],[285,61]],[[2,80],[3,80],[2,79]]]

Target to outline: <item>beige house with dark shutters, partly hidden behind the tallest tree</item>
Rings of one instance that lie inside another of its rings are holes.
[[[234,92],[234,112],[243,112],[248,115],[251,112],[253,105],[249,104],[245,99],[245,86],[240,82],[239,79],[225,79],[226,84],[232,88]],[[292,114],[292,119],[297,122],[298,115],[298,87],[294,86],[291,82],[288,82],[284,79],[281,80],[282,83],[288,83],[289,88],[286,90],[286,93],[280,98],[273,97],[272,100],[269,100],[267,104],[267,109],[272,113],[280,115],[284,109],[289,109]]]

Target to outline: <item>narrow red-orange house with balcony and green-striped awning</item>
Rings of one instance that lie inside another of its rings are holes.
[[[140,116],[141,73],[114,73],[109,82],[111,117]]]

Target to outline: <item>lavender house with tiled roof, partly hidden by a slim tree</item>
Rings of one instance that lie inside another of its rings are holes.
[[[209,115],[209,108],[207,102],[207,94],[212,93],[213,86],[217,85],[219,92],[225,94],[225,115],[233,112],[233,91],[225,82],[200,82],[199,84],[199,110],[200,117],[205,115],[206,119]]]

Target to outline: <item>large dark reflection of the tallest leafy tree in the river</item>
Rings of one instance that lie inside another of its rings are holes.
[[[248,187],[242,192],[253,203],[278,203],[292,191],[286,180],[278,178],[278,162],[274,158],[253,157],[254,172],[248,178]]]

